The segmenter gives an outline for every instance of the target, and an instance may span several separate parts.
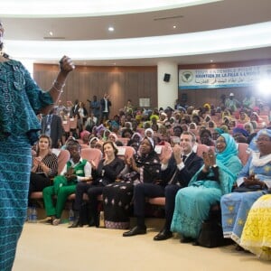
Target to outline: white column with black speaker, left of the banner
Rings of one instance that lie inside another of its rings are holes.
[[[168,82],[164,74],[170,74]],[[157,64],[157,99],[159,107],[173,107],[178,98],[178,65],[174,62],[159,61]]]

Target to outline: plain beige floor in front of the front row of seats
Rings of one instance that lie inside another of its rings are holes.
[[[151,223],[147,223],[148,226]],[[152,225],[151,225],[152,226]],[[124,230],[57,227],[25,223],[13,271],[94,270],[270,270],[271,263],[234,246],[193,247],[179,238],[154,241],[158,229],[146,235],[123,238]]]

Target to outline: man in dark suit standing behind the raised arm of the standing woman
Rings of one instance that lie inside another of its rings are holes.
[[[60,116],[54,114],[55,109],[42,117],[42,134],[51,137],[51,147],[59,148],[61,145],[61,138],[63,135],[62,120]]]

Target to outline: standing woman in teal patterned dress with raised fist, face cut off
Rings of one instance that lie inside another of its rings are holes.
[[[11,270],[26,218],[32,166],[31,145],[41,129],[36,115],[46,114],[60,98],[74,66],[61,59],[61,71],[49,91],[42,91],[22,63],[3,51],[0,22],[0,270]]]

